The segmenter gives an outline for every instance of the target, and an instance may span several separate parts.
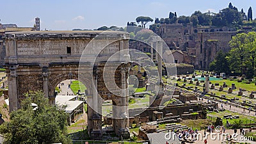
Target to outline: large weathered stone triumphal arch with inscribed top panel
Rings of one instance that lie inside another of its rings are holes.
[[[55,104],[55,87],[78,79],[88,89],[88,132],[102,138],[102,102],[113,101],[113,129],[129,138],[127,75],[129,33],[120,31],[22,31],[6,33],[5,66],[10,111],[24,93],[42,90]]]

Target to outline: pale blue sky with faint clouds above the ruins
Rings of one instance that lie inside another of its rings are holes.
[[[191,15],[201,12],[219,12],[232,3],[247,14],[252,6],[253,19],[256,16],[255,0],[4,0],[1,1],[1,23],[31,27],[35,17],[40,17],[41,29],[72,30],[74,28],[95,29],[100,26],[125,26],[138,16],[168,17],[169,12],[177,15]],[[149,26],[150,23],[147,24]]]

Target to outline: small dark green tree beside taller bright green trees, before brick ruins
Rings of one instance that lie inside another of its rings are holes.
[[[228,61],[226,57],[227,57],[226,53],[224,53],[222,50],[218,51],[216,54],[216,57],[214,58],[214,61],[210,63],[209,69],[217,73],[225,72],[228,74],[229,68],[228,68]]]

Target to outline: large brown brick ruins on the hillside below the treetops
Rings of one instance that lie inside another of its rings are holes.
[[[154,31],[163,38],[170,49],[184,53],[183,63],[194,65],[196,69],[207,70],[216,52],[230,51],[228,42],[237,32],[233,28],[211,26],[193,27],[192,24],[161,24]],[[179,60],[180,61],[180,60]]]

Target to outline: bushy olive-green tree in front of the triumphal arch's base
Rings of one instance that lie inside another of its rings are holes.
[[[43,92],[29,92],[21,109],[10,114],[10,122],[0,125],[0,132],[4,143],[71,143],[66,125],[67,114],[60,107],[50,106]]]

